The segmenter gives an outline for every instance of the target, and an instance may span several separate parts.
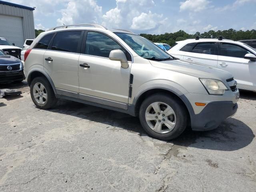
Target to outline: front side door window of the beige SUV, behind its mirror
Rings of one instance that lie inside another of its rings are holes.
[[[126,53],[120,45],[108,36],[96,32],[87,33],[85,54],[108,58],[110,52],[116,49],[120,49]]]

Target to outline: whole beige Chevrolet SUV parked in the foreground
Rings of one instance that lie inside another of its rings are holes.
[[[26,50],[24,71],[38,108],[64,98],[124,112],[164,140],[188,125],[214,129],[235,114],[239,91],[229,72],[172,58],[127,30],[81,25],[94,27],[53,28]]]

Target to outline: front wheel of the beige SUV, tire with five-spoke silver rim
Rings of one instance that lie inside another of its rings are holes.
[[[188,124],[186,107],[169,94],[154,94],[146,98],[139,110],[140,123],[147,134],[160,140],[177,138]]]

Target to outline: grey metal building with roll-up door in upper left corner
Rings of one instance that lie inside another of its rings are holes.
[[[26,39],[35,38],[34,8],[0,0],[0,37],[23,48]]]

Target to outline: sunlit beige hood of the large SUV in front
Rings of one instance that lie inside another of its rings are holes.
[[[227,79],[233,77],[230,72],[226,72],[224,70],[220,70],[196,62],[187,62],[184,60],[168,60],[159,62],[150,60],[150,63],[154,67],[188,74],[196,76],[198,78],[211,78],[226,82]]]

